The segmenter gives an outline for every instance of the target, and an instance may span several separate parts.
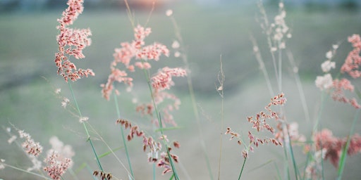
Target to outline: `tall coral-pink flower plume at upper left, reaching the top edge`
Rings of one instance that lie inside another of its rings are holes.
[[[73,29],[68,27],[72,25],[78,18],[78,15],[83,11],[84,0],[68,0],[68,8],[63,11],[63,15],[58,22],[56,28],[60,31],[56,40],[59,44],[59,52],[55,54],[55,64],[58,67],[58,74],[61,75],[66,82],[68,79],[75,82],[81,77],[94,76],[94,72],[90,69],[83,70],[76,68],[68,56],[74,56],[76,59],[85,58],[82,50],[90,46],[91,40],[88,38],[92,35],[90,29]],[[66,56],[68,55],[68,56]]]

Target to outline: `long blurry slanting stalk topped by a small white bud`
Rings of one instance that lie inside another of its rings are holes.
[[[170,18],[171,18],[171,21],[173,23],[173,27],[174,27],[176,37],[177,37],[177,39],[179,41],[179,44],[181,44],[181,50],[183,51],[182,59],[183,59],[183,63],[185,64],[185,69],[190,70],[189,63],[188,63],[188,57],[187,57],[187,54],[185,53],[183,39],[182,39],[182,36],[181,36],[181,32],[180,32],[180,30],[178,28],[178,24],[176,22],[176,19],[173,18],[173,16],[171,16]],[[192,76],[191,76],[190,72],[187,75],[187,84],[188,84],[188,91],[190,93],[190,99],[192,101],[192,108],[193,108],[193,113],[195,115],[195,121],[197,122],[198,134],[200,136],[200,145],[201,145],[202,151],[203,151],[202,154],[204,155],[204,159],[206,160],[207,169],[208,169],[208,173],[209,173],[209,178],[211,180],[213,180],[214,178],[213,178],[212,168],[211,168],[211,164],[209,162],[209,156],[208,156],[208,153],[207,153],[207,146],[204,143],[204,136],[203,136],[203,132],[202,132],[202,129],[201,129],[201,124],[200,124],[200,114],[199,114],[198,108],[197,108],[198,107],[197,106],[197,101],[195,100],[195,91],[193,89]]]

